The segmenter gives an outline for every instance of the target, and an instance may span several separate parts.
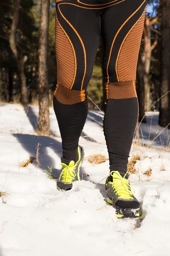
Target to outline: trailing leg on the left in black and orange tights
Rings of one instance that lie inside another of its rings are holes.
[[[100,37],[97,12],[74,0],[58,0],[56,4],[57,87],[53,102],[62,138],[62,163],[67,166],[71,160],[81,160],[78,143],[88,113],[86,88]]]

